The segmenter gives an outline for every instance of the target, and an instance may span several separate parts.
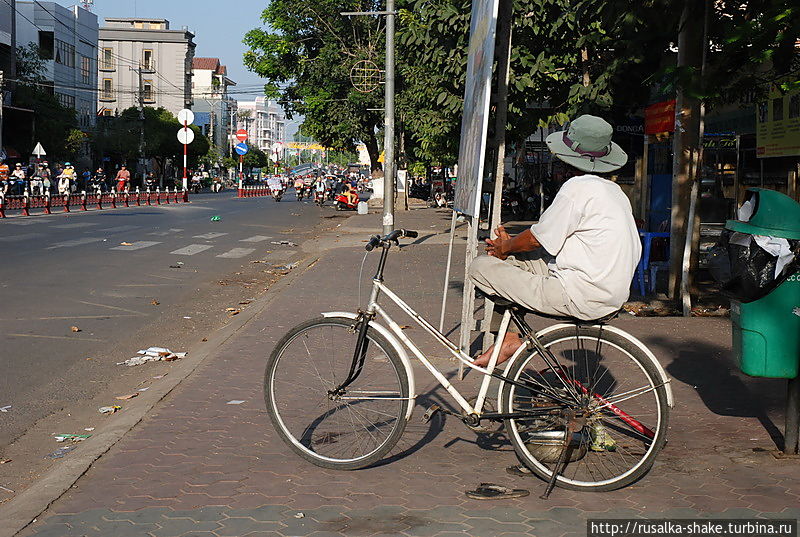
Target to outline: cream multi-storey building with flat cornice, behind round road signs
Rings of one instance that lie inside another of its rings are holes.
[[[194,34],[171,30],[166,19],[106,18],[100,28],[100,113],[163,107],[173,115],[192,107]]]

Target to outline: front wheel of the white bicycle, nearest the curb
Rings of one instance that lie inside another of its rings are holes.
[[[298,455],[323,468],[355,470],[383,458],[406,426],[411,399],[400,357],[373,328],[363,368],[339,389],[353,366],[355,321],[306,321],[275,346],[264,396],[272,424]]]

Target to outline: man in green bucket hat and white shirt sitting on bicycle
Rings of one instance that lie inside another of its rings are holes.
[[[583,115],[547,137],[550,152],[572,168],[571,178],[530,229],[511,237],[499,226],[497,238],[486,240],[489,255],[469,268],[478,289],[530,310],[583,320],[622,307],[641,243],[627,196],[616,183],[595,175],[628,160],[611,141],[612,132],[602,118]],[[520,343],[516,333],[506,334],[498,363]],[[490,355],[491,349],[473,363],[485,367]]]

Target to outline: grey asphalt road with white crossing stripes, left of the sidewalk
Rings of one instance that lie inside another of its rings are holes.
[[[226,192],[190,204],[0,221],[0,408],[12,405],[0,413],[0,449],[118,371],[87,358],[108,358],[166,307],[190,311],[201,285],[263,257],[276,248],[271,241],[293,239],[287,228],[309,229],[330,214],[293,193],[275,203]]]

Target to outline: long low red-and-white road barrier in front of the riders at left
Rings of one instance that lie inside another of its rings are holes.
[[[116,209],[117,207],[137,207],[142,205],[161,205],[170,203],[188,203],[189,192],[187,190],[174,190],[165,188],[161,191],[146,189],[140,191],[138,188],[134,192],[92,192],[86,191],[75,194],[50,195],[31,195],[27,191],[22,196],[6,196],[0,193],[0,218],[6,218],[8,211],[21,211],[23,216],[30,216],[31,209],[42,209],[39,214],[52,214],[54,208],[61,208],[65,213],[72,209],[88,211],[90,208],[102,210],[106,208]]]

